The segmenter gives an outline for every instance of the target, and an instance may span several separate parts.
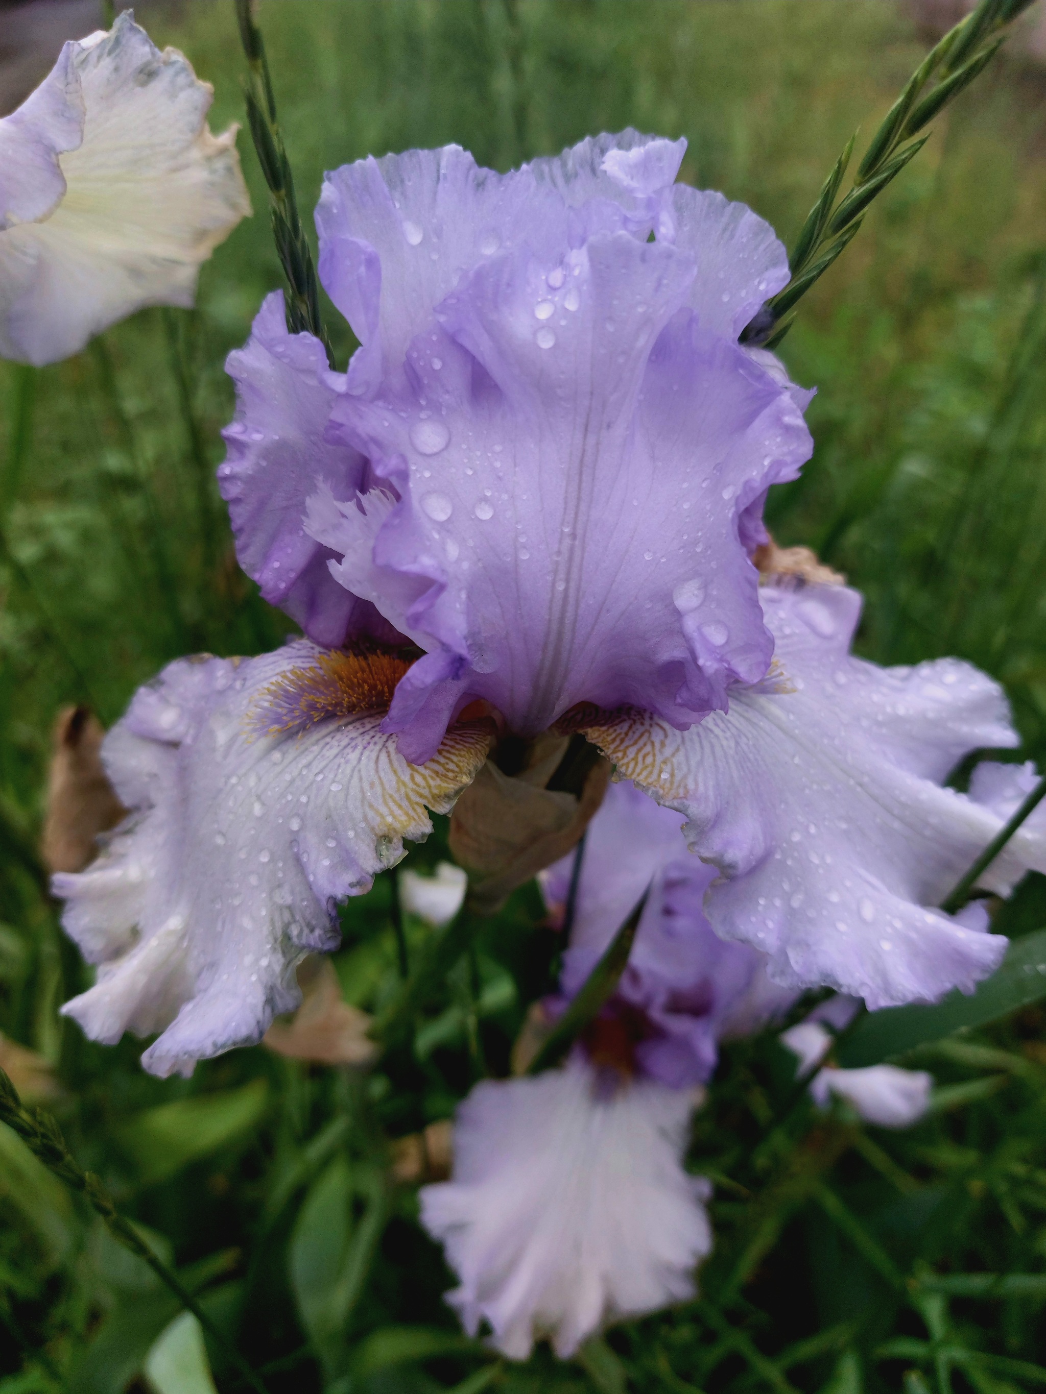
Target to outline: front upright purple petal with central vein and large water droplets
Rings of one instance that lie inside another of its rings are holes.
[[[392,729],[469,697],[522,735],[580,701],[686,725],[764,673],[738,519],[795,477],[809,434],[787,390],[679,314],[693,273],[626,233],[552,266],[492,258],[411,347],[410,396],[336,403],[332,431],[399,496],[347,584],[430,651]]]

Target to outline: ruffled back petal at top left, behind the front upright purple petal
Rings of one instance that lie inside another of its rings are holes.
[[[646,237],[647,202],[671,185],[683,148],[623,131],[508,174],[480,169],[457,145],[328,174],[317,206],[319,277],[361,344],[349,390],[399,383],[434,308],[485,258],[526,247],[548,261],[597,230]],[[616,178],[602,169],[615,151],[640,156]]]

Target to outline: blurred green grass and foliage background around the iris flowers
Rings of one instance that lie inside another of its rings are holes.
[[[303,212],[324,169],[368,152],[459,141],[506,169],[635,124],[685,134],[683,177],[749,202],[785,240],[923,52],[887,0],[268,0],[261,22]],[[153,8],[149,25],[215,84],[212,124],[241,118],[232,3]],[[770,519],[866,592],[865,654],[986,668],[1042,761],[1046,78],[1000,61],[933,132],[784,344],[792,376],[819,388],[817,449]],[[59,707],[88,701],[110,723],[166,661],[257,652],[289,627],[236,569],[213,482],[225,354],[280,284],[240,148],[258,212],[205,268],[195,312],[142,312],[39,372],[0,365],[0,1029],[54,1066],[49,1107],[78,1160],[273,1394],[1042,1387],[1038,1006],[919,1047],[911,1059],[940,1089],[902,1135],[806,1104],[781,1121],[785,1054],[770,1039],[729,1047],[695,1124],[692,1164],[717,1186],[702,1299],[572,1365],[540,1352],[512,1368],[444,1306],[450,1276],[411,1188],[391,1181],[388,1139],[508,1069],[555,969],[533,888],[427,1004],[414,1048],[370,1076],[257,1048],[159,1082],[135,1043],[89,1044],[57,1016],[86,981],[35,850]],[[347,333],[325,314],[343,365]],[[442,845],[441,828],[411,864]],[[336,967],[368,1011],[399,983],[389,912],[378,884],[343,916]],[[1046,882],[1029,878],[997,924],[1046,924]],[[424,926],[407,931],[420,951]],[[206,1394],[194,1320],[3,1128],[0,1223],[0,1394],[142,1379]],[[219,1351],[209,1363],[222,1390],[241,1387]]]

